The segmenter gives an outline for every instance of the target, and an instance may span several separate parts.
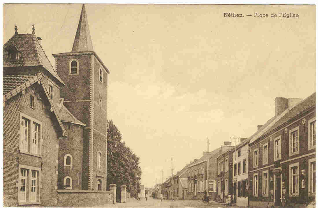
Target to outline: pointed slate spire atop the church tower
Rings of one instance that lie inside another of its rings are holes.
[[[72,52],[85,50],[94,51],[91,33],[89,32],[85,6],[83,4],[82,12],[79,17],[79,25],[77,26],[77,31],[73,43]]]

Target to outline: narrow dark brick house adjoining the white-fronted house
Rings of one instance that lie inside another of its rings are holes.
[[[217,166],[217,201],[225,202],[227,195],[232,195],[232,151],[227,150],[216,158]]]

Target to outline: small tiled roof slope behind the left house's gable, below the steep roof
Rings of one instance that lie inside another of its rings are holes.
[[[37,77],[36,74],[7,75],[3,77],[3,95],[24,84],[30,79]]]

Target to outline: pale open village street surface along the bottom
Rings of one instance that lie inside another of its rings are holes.
[[[117,204],[106,204],[98,207],[172,207],[182,208],[182,207],[209,207],[209,208],[221,208],[221,207],[239,207],[239,206],[226,206],[217,202],[204,203],[198,200],[162,200],[157,198],[142,198],[137,201],[135,198],[128,198],[127,203],[117,203]]]

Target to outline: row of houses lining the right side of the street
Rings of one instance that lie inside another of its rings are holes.
[[[294,207],[315,200],[315,99],[276,97],[275,115],[249,138],[204,152],[161,185],[174,199],[206,199],[239,206]],[[208,169],[207,169],[208,168]]]

